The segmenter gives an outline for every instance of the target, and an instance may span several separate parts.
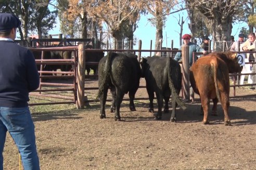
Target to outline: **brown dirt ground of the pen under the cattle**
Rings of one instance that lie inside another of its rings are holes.
[[[86,86],[97,84],[88,81]],[[255,93],[256,90],[248,88],[236,90],[236,95]],[[87,95],[94,96],[93,92]],[[139,89],[136,97],[143,96],[147,97],[146,90]],[[187,103],[185,111],[178,108],[176,123],[170,122],[170,114],[154,120],[147,111],[148,101],[135,101],[137,110],[132,112],[127,102],[123,102],[122,121],[114,121],[109,102],[106,119],[99,118],[98,102],[83,110],[65,105],[61,110],[36,112],[33,106],[40,166],[41,169],[256,169],[255,101],[256,97],[231,98],[232,126],[224,125],[220,103],[220,116],[210,116],[209,125],[202,124],[199,101]],[[9,135],[4,158],[4,169],[19,169],[18,151]]]

